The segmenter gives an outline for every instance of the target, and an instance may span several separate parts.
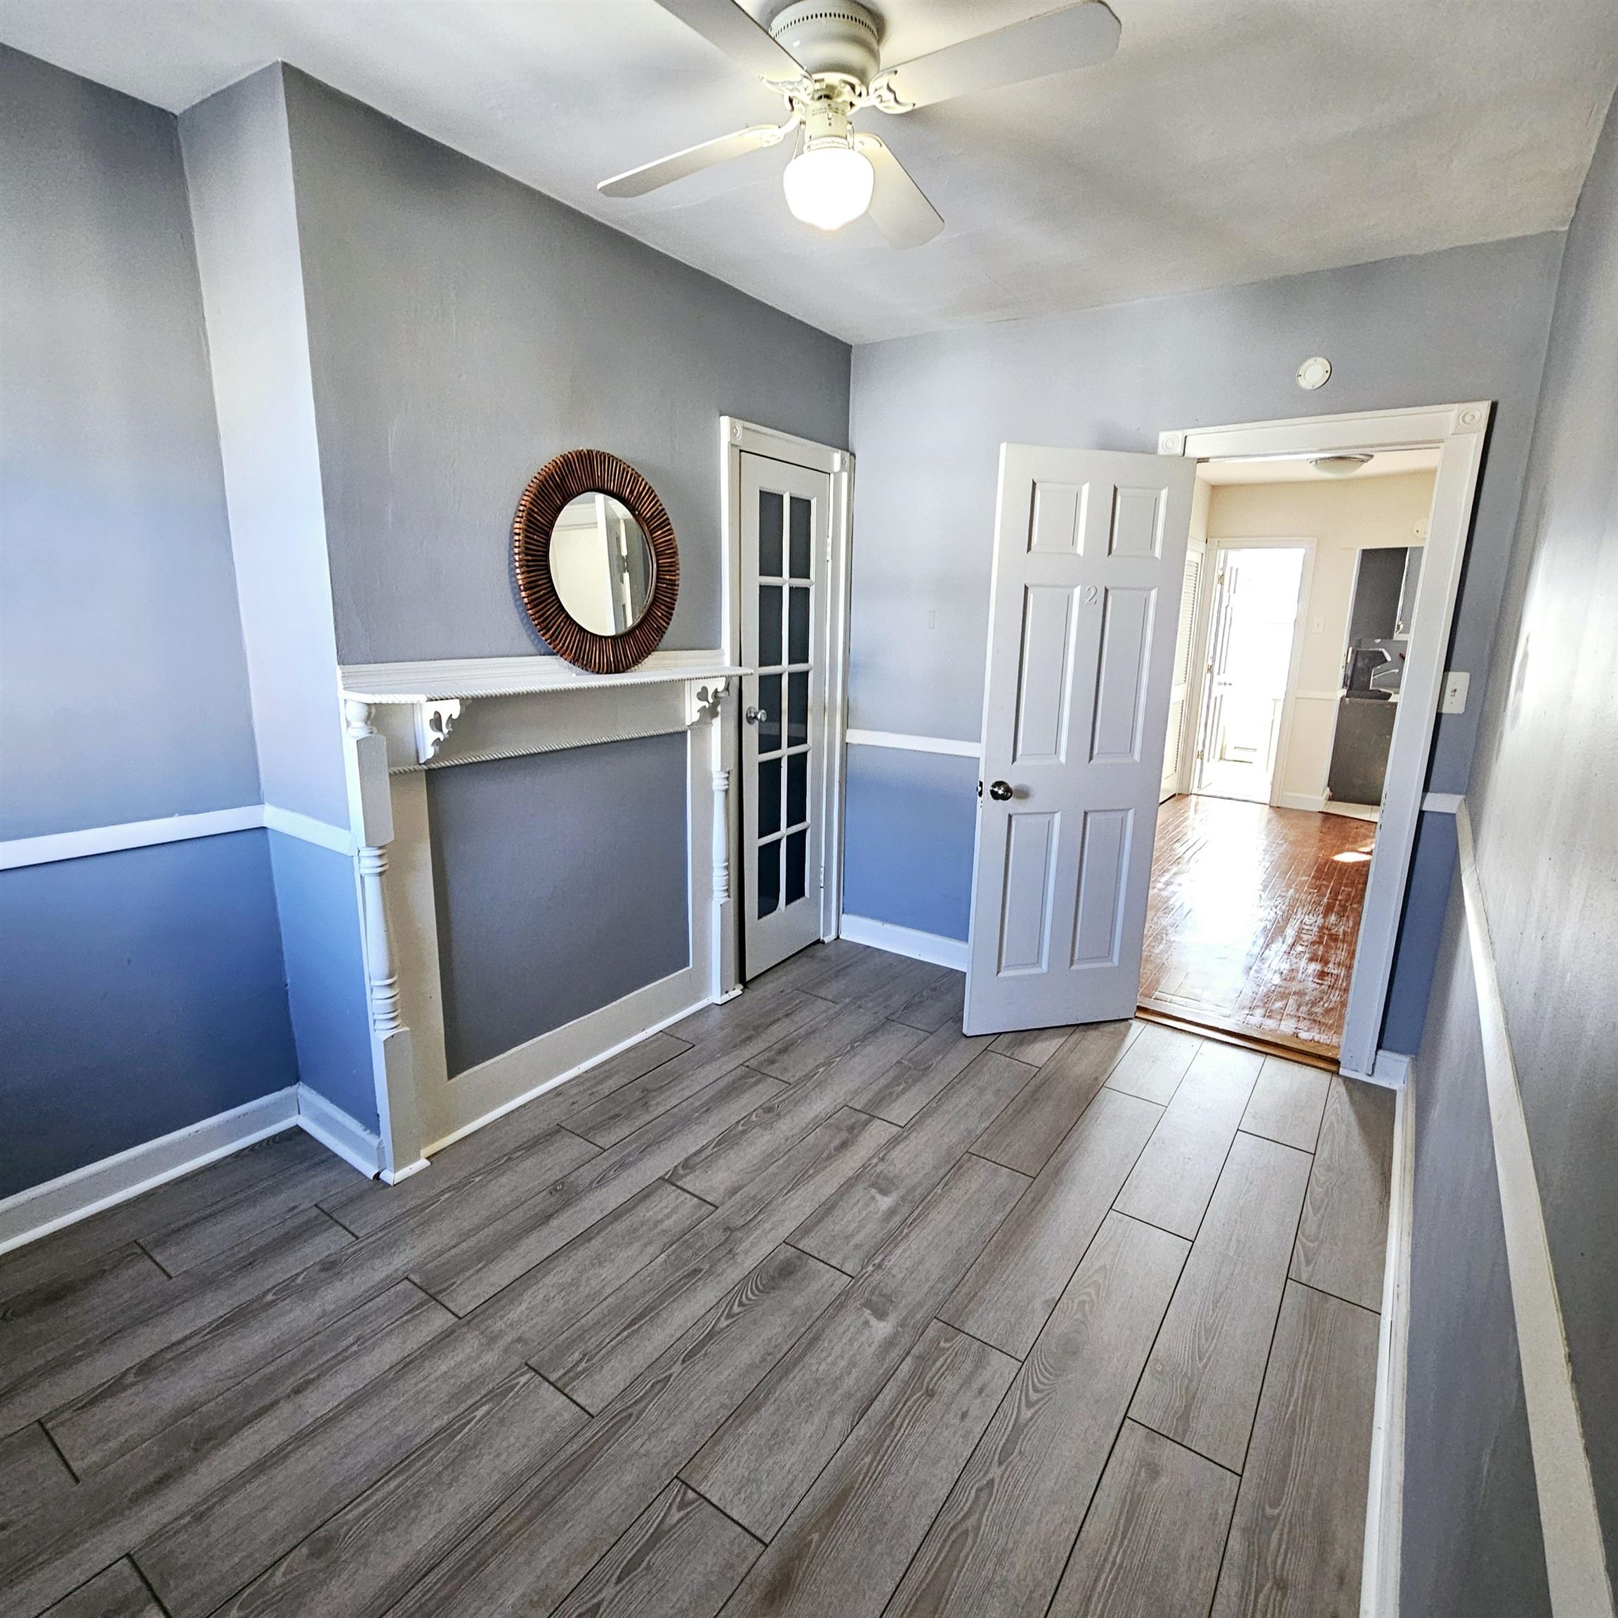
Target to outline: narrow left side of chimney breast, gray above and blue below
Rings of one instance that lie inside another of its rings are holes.
[[[180,120],[264,799],[346,828],[320,445],[282,70]],[[353,861],[272,837],[303,1082],[377,1125]]]

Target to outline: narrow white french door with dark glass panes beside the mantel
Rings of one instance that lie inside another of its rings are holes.
[[[741,456],[743,951],[759,972],[820,937],[832,479]]]

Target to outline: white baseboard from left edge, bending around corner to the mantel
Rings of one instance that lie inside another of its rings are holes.
[[[367,1178],[377,1173],[382,1142],[369,1129],[306,1084],[288,1086],[0,1199],[0,1252],[144,1196],[293,1126]]]

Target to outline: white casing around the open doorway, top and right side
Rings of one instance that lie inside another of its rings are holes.
[[[1158,435],[1160,455],[1184,455],[1197,461],[1438,450],[1411,649],[1400,688],[1400,712],[1393,722],[1377,851],[1366,879],[1366,904],[1338,1055],[1340,1069],[1353,1078],[1377,1076],[1377,1040],[1393,977],[1393,950],[1409,883],[1422,786],[1443,689],[1445,655],[1492,411],[1489,400],[1472,400],[1416,409],[1178,429]]]

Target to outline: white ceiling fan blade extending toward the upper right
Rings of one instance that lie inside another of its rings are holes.
[[[1103,0],[1079,0],[1060,11],[1047,11],[900,63],[872,87],[887,91],[877,95],[883,112],[909,112],[974,91],[1039,79],[1047,73],[1091,68],[1113,55],[1121,32],[1123,26]]]

